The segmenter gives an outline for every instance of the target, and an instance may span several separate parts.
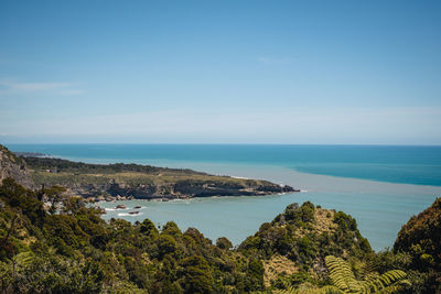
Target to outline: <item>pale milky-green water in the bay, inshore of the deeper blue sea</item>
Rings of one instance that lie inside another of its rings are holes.
[[[169,163],[169,166],[171,164]],[[193,168],[203,166],[194,165]],[[204,165],[203,171],[227,174],[225,165]],[[256,196],[195,198],[172,202],[123,202],[126,210],[114,210],[115,203],[100,203],[107,210],[105,219],[120,217],[130,221],[151,219],[157,225],[174,220],[182,229],[195,227],[215,240],[225,236],[233,243],[240,243],[252,235],[263,221],[271,221],[291,203],[311,200],[325,208],[343,210],[356,218],[362,235],[368,238],[375,250],[391,247],[400,227],[415,214],[422,211],[441,195],[441,187],[390,184],[364,179],[304,174],[289,170],[261,166],[246,171],[234,168],[237,176],[267,178],[300,187],[303,192]],[[259,173],[259,171],[262,171]],[[300,184],[301,183],[301,184]],[[142,209],[132,209],[140,205]],[[128,215],[139,210],[139,215]]]

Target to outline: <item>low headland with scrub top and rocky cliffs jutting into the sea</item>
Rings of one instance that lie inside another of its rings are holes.
[[[294,192],[268,181],[215,176],[192,170],[139,164],[86,164],[60,159],[25,157],[35,187],[62,185],[83,197],[185,198],[250,196]]]

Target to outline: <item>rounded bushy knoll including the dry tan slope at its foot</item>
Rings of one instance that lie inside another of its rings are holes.
[[[325,279],[326,255],[363,260],[373,253],[355,219],[342,211],[314,207],[310,202],[289,205],[270,224],[262,224],[239,250],[263,261],[267,286],[291,284],[297,279],[300,283],[306,276]]]

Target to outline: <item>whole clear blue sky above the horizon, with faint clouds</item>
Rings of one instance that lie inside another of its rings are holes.
[[[441,144],[441,1],[0,1],[0,143]]]

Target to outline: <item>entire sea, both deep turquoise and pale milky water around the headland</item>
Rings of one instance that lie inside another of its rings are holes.
[[[263,221],[291,203],[312,200],[344,210],[357,219],[375,250],[391,247],[400,227],[441,196],[440,146],[336,145],[7,145],[94,163],[135,162],[190,167],[214,174],[266,178],[301,188],[302,193],[265,197],[223,197],[169,203],[136,200],[140,215],[108,208],[105,218],[131,221],[150,218],[157,225],[174,220],[196,227],[215,240],[226,236],[238,244]]]

